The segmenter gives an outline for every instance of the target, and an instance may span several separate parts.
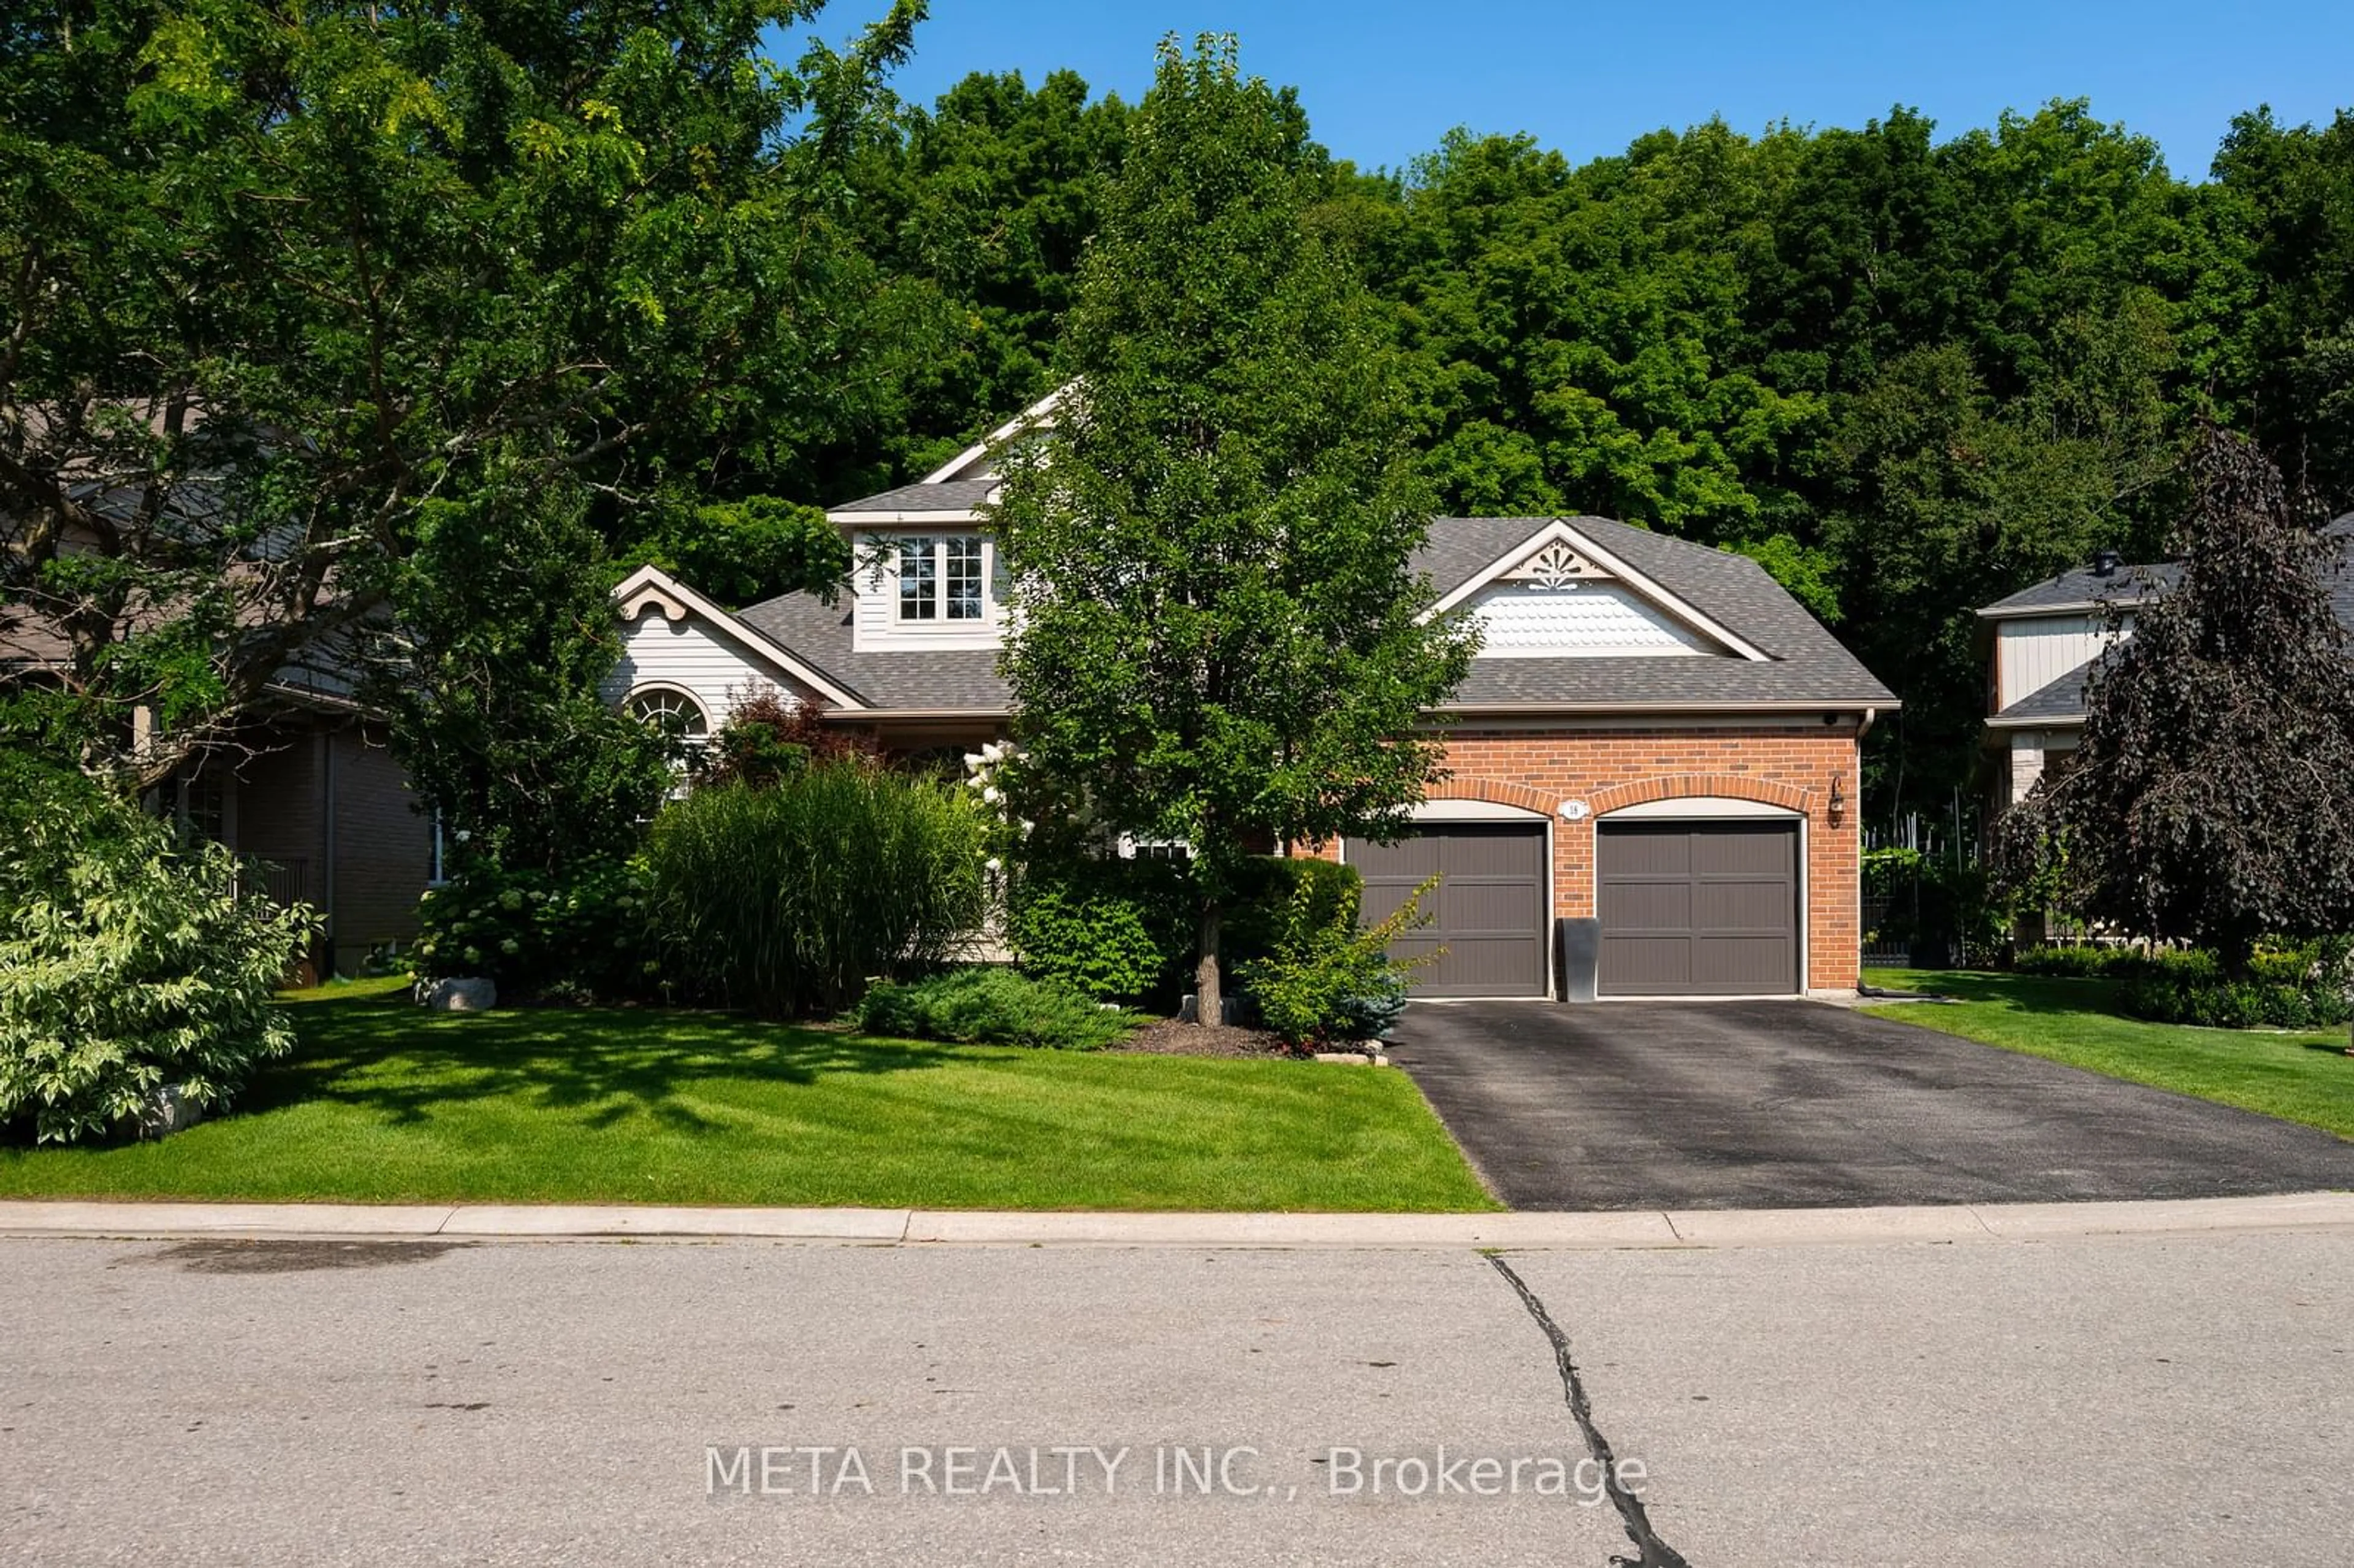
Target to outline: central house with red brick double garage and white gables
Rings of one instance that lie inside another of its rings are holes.
[[[996,452],[1052,398],[913,485],[836,506],[838,603],[727,612],[645,567],[614,593],[610,695],[690,732],[774,685],[890,751],[1003,732]],[[1431,723],[1450,777],[1412,836],[1344,841],[1379,918],[1438,876],[1424,996],[1841,991],[1857,982],[1857,760],[1895,695],[1744,556],[1605,518],[1438,518],[1434,612],[1485,629]]]

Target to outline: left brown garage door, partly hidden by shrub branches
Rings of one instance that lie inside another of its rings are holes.
[[[1403,843],[1351,838],[1349,864],[1365,878],[1365,925],[1387,918],[1424,878],[1431,923],[1389,951],[1415,958],[1415,996],[1544,996],[1544,824],[1427,824]]]

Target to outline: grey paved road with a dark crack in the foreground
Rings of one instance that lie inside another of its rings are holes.
[[[1591,1434],[1467,1250],[0,1241],[0,1561],[1603,1568],[1638,1552],[1596,1441],[1653,1563],[2354,1537],[2354,1231],[1507,1267]],[[758,1495],[744,1446],[833,1448],[836,1495],[793,1453]],[[1179,1446],[1257,1490],[1177,1495]],[[1370,1495],[1441,1446],[1467,1490]],[[946,1495],[998,1448],[1024,1490]],[[1547,1457],[1568,1495],[1471,1490]]]

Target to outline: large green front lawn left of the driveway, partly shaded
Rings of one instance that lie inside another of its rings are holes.
[[[876,1041],[706,1012],[290,998],[301,1048],[155,1144],[0,1196],[1490,1210],[1391,1069]]]

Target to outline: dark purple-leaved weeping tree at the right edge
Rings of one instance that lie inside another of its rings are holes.
[[[2208,431],[2192,485],[2182,577],[2095,669],[2083,742],[2006,819],[2006,859],[2069,909],[2243,975],[2260,935],[2354,925],[2345,537],[2307,527],[2243,436]]]

